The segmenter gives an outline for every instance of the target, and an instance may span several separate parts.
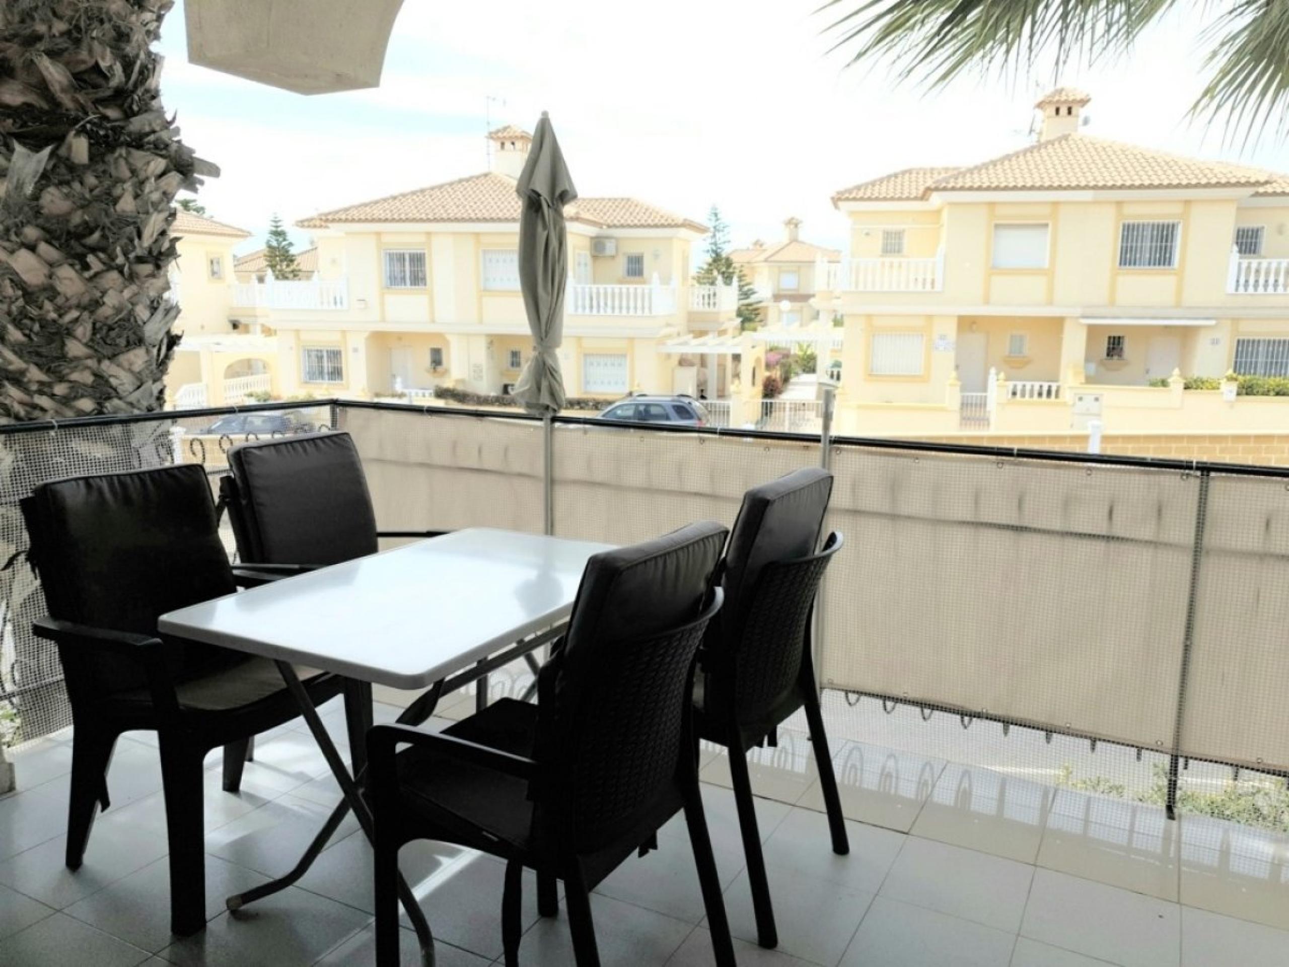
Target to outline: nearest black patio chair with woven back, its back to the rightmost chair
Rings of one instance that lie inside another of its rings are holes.
[[[378,964],[398,963],[398,848],[412,839],[507,861],[507,964],[518,957],[525,866],[538,873],[543,915],[558,912],[563,879],[576,963],[598,964],[589,891],[632,854],[656,848],[656,830],[682,808],[717,963],[735,963],[690,701],[697,647],[721,606],[710,576],[724,535],[695,523],[592,557],[536,705],[503,699],[441,734],[371,730]]]

